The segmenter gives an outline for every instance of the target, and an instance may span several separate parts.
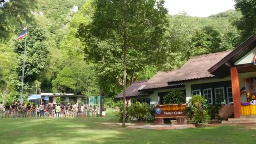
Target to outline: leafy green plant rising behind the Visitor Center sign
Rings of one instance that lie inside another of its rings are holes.
[[[164,104],[180,104],[186,102],[186,96],[182,91],[171,91],[163,96]]]

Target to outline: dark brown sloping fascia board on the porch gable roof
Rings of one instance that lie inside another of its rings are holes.
[[[235,50],[233,50],[231,53],[229,53],[227,56],[225,56],[221,61],[219,61],[217,64],[215,64],[213,67],[208,69],[208,72],[212,74],[216,69],[218,69],[221,65],[225,64],[225,62],[229,61],[235,54],[237,54],[238,51],[241,51],[246,45],[249,45],[252,43],[254,40],[256,40],[256,34],[251,35],[247,40],[245,40],[243,43],[238,45]]]

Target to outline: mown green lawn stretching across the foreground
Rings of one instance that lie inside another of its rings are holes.
[[[255,144],[256,125],[154,131],[94,122],[107,118],[0,118],[0,144]]]

